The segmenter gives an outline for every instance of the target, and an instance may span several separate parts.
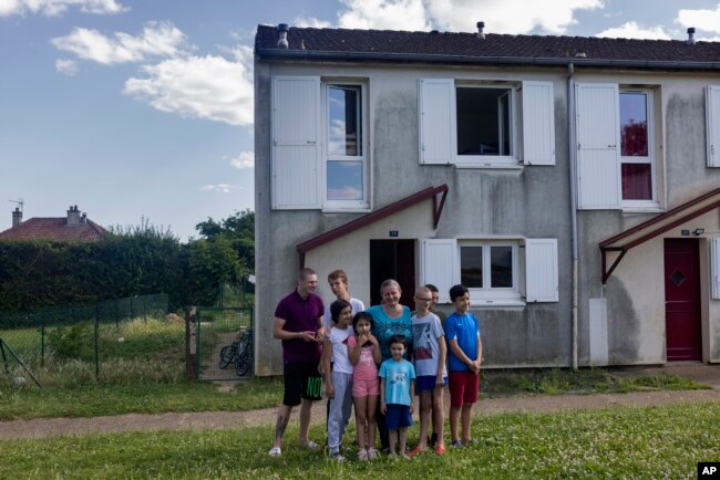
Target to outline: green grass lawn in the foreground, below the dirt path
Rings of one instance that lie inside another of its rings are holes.
[[[477,444],[411,460],[353,460],[352,435],[344,465],[297,447],[295,427],[280,458],[267,456],[271,427],[3,441],[0,478],[696,478],[698,461],[720,459],[720,405],[484,417]]]

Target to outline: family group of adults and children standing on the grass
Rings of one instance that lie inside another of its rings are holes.
[[[451,445],[462,448],[472,442],[471,411],[477,401],[482,342],[477,319],[470,312],[467,289],[450,289],[455,311],[445,316],[435,309],[440,294],[431,284],[415,290],[411,312],[400,303],[402,290],[395,280],[382,282],[381,303],[367,310],[350,296],[342,270],[331,272],[328,283],[337,300],[326,307],[315,294],[317,273],[301,269],[297,288],[276,307],[272,332],[282,342],[285,393],[269,455],[281,455],[282,437],[298,405],[300,446],[319,448],[308,432],[312,401],[323,394],[332,459],[346,460],[341,445],[353,405],[358,459],[379,457],[376,429],[388,455],[410,458],[430,448],[442,455],[445,385],[451,398]],[[418,445],[408,450],[414,396],[419,397],[420,436]]]

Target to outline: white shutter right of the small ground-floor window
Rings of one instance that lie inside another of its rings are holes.
[[[557,302],[557,239],[525,240],[526,302]]]

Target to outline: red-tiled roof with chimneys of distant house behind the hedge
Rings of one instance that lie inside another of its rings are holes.
[[[59,242],[99,241],[110,232],[70,206],[66,217],[30,218],[22,221],[19,208],[12,212],[12,228],[0,232],[2,240],[52,240]]]

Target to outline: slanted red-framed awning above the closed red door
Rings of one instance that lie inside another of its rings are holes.
[[[603,252],[603,284],[607,282],[615,268],[620,263],[625,253],[632,247],[637,247],[655,237],[676,228],[679,225],[692,220],[696,217],[707,213],[720,207],[720,188],[710,190],[700,197],[697,197],[679,207],[673,208],[662,215],[659,215],[648,221],[632,227],[623,233],[603,240],[599,243]],[[607,253],[620,252],[610,268],[607,268]]]

